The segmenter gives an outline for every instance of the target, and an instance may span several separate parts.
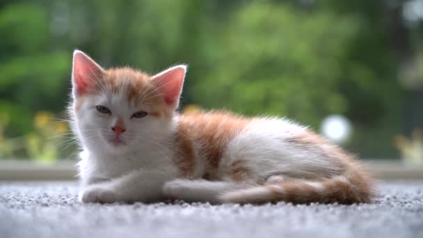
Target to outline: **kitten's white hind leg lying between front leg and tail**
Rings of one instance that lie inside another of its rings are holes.
[[[184,180],[166,182],[163,193],[172,199],[186,202],[219,203],[218,196],[226,191],[253,187],[253,184],[229,181]]]

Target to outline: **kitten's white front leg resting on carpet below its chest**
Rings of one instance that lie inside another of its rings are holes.
[[[162,200],[162,187],[177,173],[173,169],[134,170],[107,182],[91,184],[79,193],[83,203],[152,202]]]

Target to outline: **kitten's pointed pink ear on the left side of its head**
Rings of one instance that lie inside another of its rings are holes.
[[[104,70],[82,51],[75,50],[72,65],[72,85],[74,97],[83,95],[100,79]]]

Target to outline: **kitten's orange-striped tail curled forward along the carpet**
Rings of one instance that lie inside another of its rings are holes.
[[[223,203],[370,203],[374,188],[369,177],[346,173],[325,180],[293,180],[223,193]]]

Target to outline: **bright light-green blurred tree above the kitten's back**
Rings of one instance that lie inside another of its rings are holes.
[[[194,100],[317,126],[322,116],[346,110],[335,86],[357,27],[350,17],[326,11],[247,4],[211,40],[216,43],[205,58],[211,70],[194,82]]]

